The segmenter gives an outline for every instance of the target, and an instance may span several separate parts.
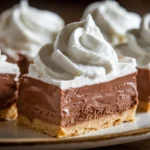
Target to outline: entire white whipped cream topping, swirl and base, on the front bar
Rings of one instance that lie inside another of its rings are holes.
[[[41,48],[29,67],[29,76],[59,86],[81,87],[136,72],[136,62],[118,57],[91,15],[67,25],[54,44]]]

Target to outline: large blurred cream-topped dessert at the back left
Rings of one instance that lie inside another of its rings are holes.
[[[30,7],[28,1],[4,11],[0,16],[0,48],[8,61],[27,72],[39,49],[52,43],[63,28],[64,21],[50,11]]]

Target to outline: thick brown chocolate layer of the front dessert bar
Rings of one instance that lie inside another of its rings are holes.
[[[138,103],[135,75],[69,90],[23,76],[18,112],[30,121],[38,118],[63,127],[122,113]]]

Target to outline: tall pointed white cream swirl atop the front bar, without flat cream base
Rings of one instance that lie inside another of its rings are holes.
[[[46,59],[45,51],[50,49],[51,54]],[[58,34],[54,45],[41,49],[38,57],[43,64],[49,64],[47,67],[51,73],[52,64],[55,64],[57,71],[63,70],[65,77],[72,78],[80,75],[95,78],[111,72],[118,62],[115,51],[104,40],[91,15],[82,22],[67,25]],[[64,77],[60,72],[58,76],[60,79]]]

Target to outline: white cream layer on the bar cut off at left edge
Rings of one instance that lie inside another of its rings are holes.
[[[0,51],[0,74],[15,74],[17,81],[20,75],[19,68],[17,64],[12,64],[6,61],[7,57],[5,55],[1,55]]]

